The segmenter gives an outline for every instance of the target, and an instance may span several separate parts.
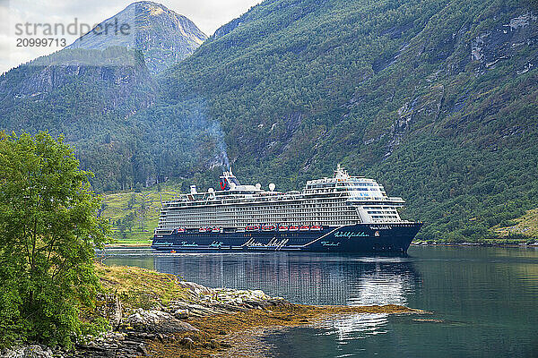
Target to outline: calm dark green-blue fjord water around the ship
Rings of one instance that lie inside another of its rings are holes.
[[[538,250],[412,247],[407,257],[311,253],[106,253],[109,265],[205,286],[262,289],[295,303],[403,304],[263,337],[278,357],[538,357]]]

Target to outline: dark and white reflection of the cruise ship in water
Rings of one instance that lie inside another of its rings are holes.
[[[305,253],[177,253],[108,257],[110,265],[136,265],[178,275],[209,287],[261,289],[293,303],[402,304],[420,282],[405,257],[358,257]],[[338,341],[385,333],[385,314],[350,315],[328,320],[320,334]]]

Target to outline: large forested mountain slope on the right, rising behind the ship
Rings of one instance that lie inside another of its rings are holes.
[[[247,180],[296,189],[340,162],[408,200],[422,238],[483,237],[538,202],[537,14],[265,1],[162,76],[152,111],[203,102]]]

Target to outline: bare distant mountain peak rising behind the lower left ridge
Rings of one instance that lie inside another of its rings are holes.
[[[193,21],[163,4],[139,1],[100,22],[67,48],[140,50],[152,73],[192,54],[207,38]]]

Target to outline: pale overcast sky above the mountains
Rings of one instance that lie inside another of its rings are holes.
[[[259,4],[261,0],[155,0],[170,10],[187,16],[207,36],[225,23]],[[48,55],[61,47],[17,47],[17,23],[63,23],[77,18],[79,23],[97,24],[122,11],[129,0],[0,0],[0,73],[39,55]],[[67,45],[77,36],[65,38]]]

